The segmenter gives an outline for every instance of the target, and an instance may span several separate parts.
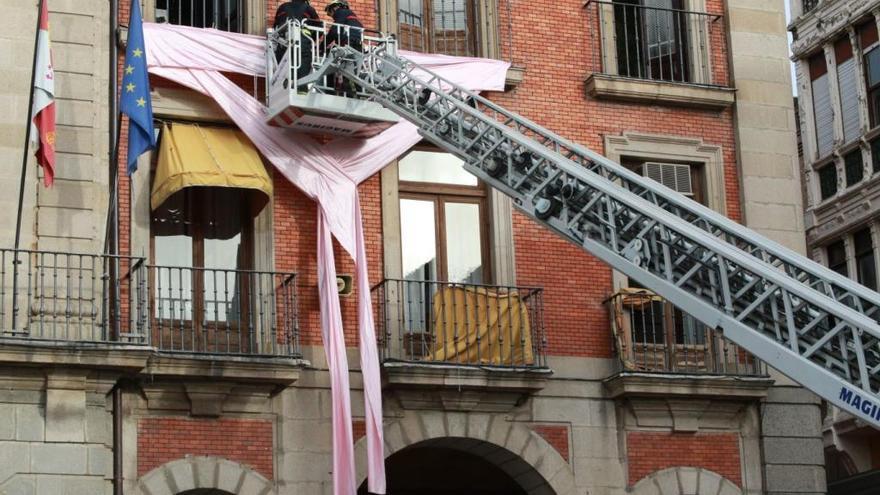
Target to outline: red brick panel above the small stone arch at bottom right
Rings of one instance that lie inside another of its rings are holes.
[[[714,471],[742,486],[739,436],[736,433],[651,433],[626,435],[629,485],[663,469],[689,466]]]

